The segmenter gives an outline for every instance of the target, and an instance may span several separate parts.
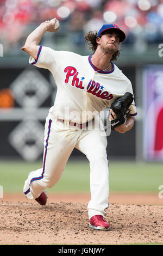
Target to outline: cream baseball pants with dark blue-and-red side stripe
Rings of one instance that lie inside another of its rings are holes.
[[[97,117],[96,121],[101,120]],[[102,123],[102,122],[101,122]],[[30,172],[23,192],[29,199],[40,196],[45,188],[51,188],[61,178],[74,148],[84,153],[90,162],[91,200],[87,206],[89,220],[94,215],[105,216],[109,197],[109,166],[106,155],[107,140],[103,129],[81,130],[67,126],[57,119],[46,118],[43,165]]]

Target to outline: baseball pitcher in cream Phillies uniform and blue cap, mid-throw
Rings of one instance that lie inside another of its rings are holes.
[[[45,123],[42,168],[29,173],[23,192],[29,199],[45,205],[46,188],[59,181],[72,150],[77,148],[90,162],[89,225],[108,230],[110,224],[104,218],[109,206],[107,140],[98,114],[117,97],[126,92],[133,94],[131,82],[112,62],[119,55],[120,42],[126,35],[117,25],[103,25],[98,34],[85,35],[92,56],[80,56],[39,45],[43,34],[58,31],[55,22],[56,19],[41,23],[22,47],[30,55],[29,64],[51,71],[57,84],[54,106],[49,109]],[[124,133],[133,127],[136,107],[131,105],[130,110],[129,117],[116,131]],[[116,114],[110,111],[111,121]]]

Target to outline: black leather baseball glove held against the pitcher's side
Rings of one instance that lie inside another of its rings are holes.
[[[112,104],[111,109],[116,114],[117,118],[111,121],[111,130],[124,124],[126,118],[130,115],[131,109],[129,106],[133,102],[133,94],[125,93],[123,96],[118,97]],[[112,116],[113,117],[113,116]]]

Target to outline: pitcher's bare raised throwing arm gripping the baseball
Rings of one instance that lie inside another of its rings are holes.
[[[32,56],[34,59],[37,58],[37,53],[39,51],[39,44],[42,39],[42,36],[46,32],[57,32],[59,27],[57,29],[54,29],[55,22],[57,21],[56,18],[54,18],[52,21],[45,21],[40,24],[39,27],[37,27],[27,38],[26,43],[21,48],[24,52],[27,52],[30,56]]]

